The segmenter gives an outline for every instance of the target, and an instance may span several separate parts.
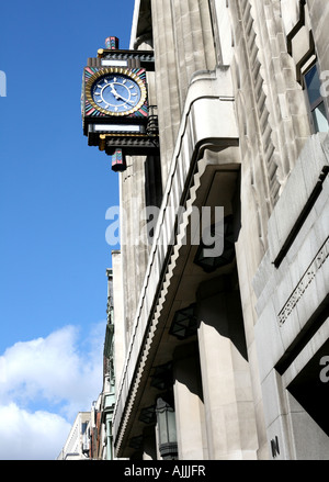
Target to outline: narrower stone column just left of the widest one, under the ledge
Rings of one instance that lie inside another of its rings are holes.
[[[204,406],[196,344],[180,346],[173,357],[173,394],[180,460],[207,459]]]

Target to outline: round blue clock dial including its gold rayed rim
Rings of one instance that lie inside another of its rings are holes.
[[[86,100],[100,114],[131,116],[146,102],[145,77],[132,69],[107,67],[87,81]]]

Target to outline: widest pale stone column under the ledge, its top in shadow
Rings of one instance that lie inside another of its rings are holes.
[[[209,459],[256,459],[254,408],[238,291],[202,296],[197,317]]]

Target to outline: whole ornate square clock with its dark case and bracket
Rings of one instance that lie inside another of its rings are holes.
[[[106,48],[83,69],[81,113],[88,145],[112,157],[112,169],[126,169],[126,156],[159,154],[157,108],[148,103],[151,51],[121,51],[107,37]]]

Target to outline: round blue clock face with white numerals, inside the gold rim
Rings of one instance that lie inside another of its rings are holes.
[[[139,85],[123,74],[100,77],[91,88],[91,96],[98,109],[112,115],[134,112],[141,101]]]

